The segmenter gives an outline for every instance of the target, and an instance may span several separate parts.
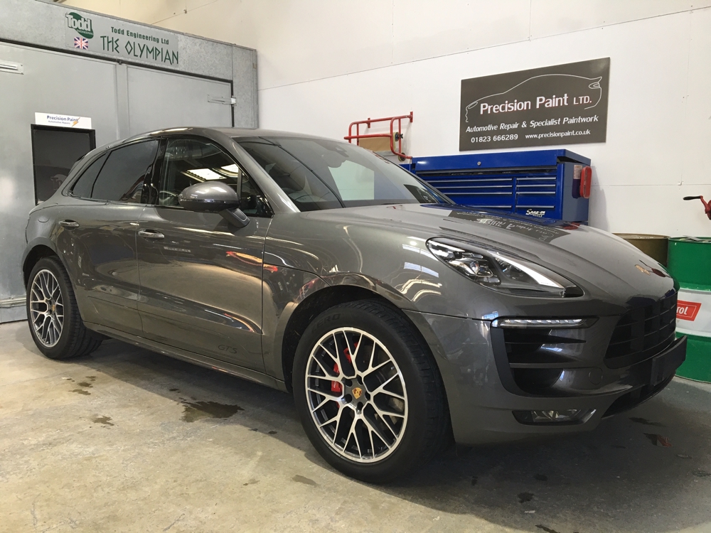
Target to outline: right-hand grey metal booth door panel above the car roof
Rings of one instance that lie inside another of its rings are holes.
[[[227,82],[128,67],[132,135],[177,126],[232,126]]]

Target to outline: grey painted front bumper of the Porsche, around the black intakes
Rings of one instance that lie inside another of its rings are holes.
[[[407,314],[432,348],[447,390],[454,438],[464,445],[592,430],[605,416],[631,409],[660,392],[685,357],[686,339],[681,338],[634,365],[609,368],[603,355],[611,333],[598,330],[585,343],[585,360],[589,363],[594,357],[594,365],[575,368],[570,378],[564,373],[545,394],[535,394],[509,379],[508,361],[502,360],[497,341],[501,332],[490,322]],[[611,324],[614,327],[614,321]],[[580,421],[555,424],[524,424],[513,414],[567,409],[594,412]]]

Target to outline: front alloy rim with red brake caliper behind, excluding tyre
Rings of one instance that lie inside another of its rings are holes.
[[[405,434],[405,379],[366,331],[338,328],[321,337],[306,363],[306,397],[321,436],[351,461],[380,461]]]

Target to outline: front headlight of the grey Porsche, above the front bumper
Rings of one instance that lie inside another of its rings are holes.
[[[427,248],[456,271],[495,291],[517,296],[570,298],[583,291],[569,279],[520,257],[454,239],[429,239]]]

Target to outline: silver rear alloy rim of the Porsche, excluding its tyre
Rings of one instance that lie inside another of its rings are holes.
[[[38,340],[52,348],[62,336],[64,300],[56,276],[48,269],[38,271],[30,289],[30,320]]]

